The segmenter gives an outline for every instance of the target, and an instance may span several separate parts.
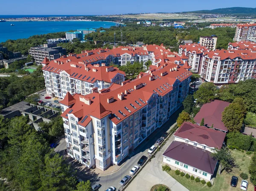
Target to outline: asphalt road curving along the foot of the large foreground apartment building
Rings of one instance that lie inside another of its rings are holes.
[[[169,130],[169,128],[176,123],[177,117],[179,113],[182,111],[183,108],[180,108],[178,111],[176,111],[170,119],[159,129],[154,131],[153,134],[151,134],[141,145],[139,145],[135,150],[134,150],[134,156],[128,157],[127,162],[116,172],[113,172],[112,174],[108,175],[98,175],[93,173],[90,170],[85,170],[85,171],[78,171],[77,176],[81,180],[90,180],[91,182],[96,182],[101,185],[101,188],[99,191],[105,191],[108,187],[114,186],[115,188],[119,189],[122,187],[119,182],[122,180],[122,178],[125,175],[130,175],[129,171],[134,165],[137,165],[138,160],[140,159],[141,156],[145,155],[148,156],[148,148],[150,148],[152,145],[155,145],[155,142],[158,138],[161,137],[161,135]],[[159,161],[162,162],[162,161]]]

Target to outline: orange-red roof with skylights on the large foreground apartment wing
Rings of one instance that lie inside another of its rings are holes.
[[[122,120],[126,119],[131,114],[147,105],[147,101],[152,94],[159,94],[163,96],[173,89],[172,85],[175,83],[176,80],[183,81],[192,75],[191,72],[187,71],[182,67],[177,68],[177,71],[170,71],[170,69],[175,67],[178,66],[176,64],[170,64],[166,66],[164,68],[164,71],[167,71],[167,74],[164,76],[161,76],[161,73],[163,72],[162,68],[154,71],[152,73],[152,81],[149,80],[151,74],[144,74],[143,77],[139,77],[135,80],[127,82],[123,86],[119,86],[116,88],[112,87],[110,88],[111,91],[106,91],[105,93],[92,93],[85,96],[75,94],[73,97],[76,99],[76,103],[72,106],[71,109],[73,111],[71,113],[83,108],[83,117],[91,115],[98,119],[101,119],[102,117],[105,117],[106,115],[112,113],[111,120],[113,121],[113,123],[120,123]],[[142,84],[142,87],[139,89],[135,89],[134,86],[137,84]],[[125,94],[125,92],[127,92],[127,94]],[[124,94],[123,100],[120,100],[118,98],[118,94],[121,93]],[[79,97],[90,98],[91,105],[83,103],[79,100]],[[113,97],[114,101],[112,103],[108,103],[107,100],[109,97]],[[135,108],[131,104],[134,105]],[[128,110],[131,112],[125,109],[125,107],[128,108]],[[123,114],[121,114],[119,110],[122,111]],[[69,111],[70,109],[67,109],[61,116],[65,117]],[[116,117],[113,114],[115,114]],[[86,124],[83,123],[83,125]]]

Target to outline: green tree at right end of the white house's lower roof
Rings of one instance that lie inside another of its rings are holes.
[[[218,160],[220,163],[218,174],[221,174],[221,169],[230,173],[232,168],[236,167],[235,159],[231,156],[230,151],[228,148],[221,148],[220,150],[215,149],[212,153],[212,157],[215,160]]]

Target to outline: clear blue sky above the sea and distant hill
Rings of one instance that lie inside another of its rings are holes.
[[[256,6],[255,0],[0,0],[0,15],[103,15]]]

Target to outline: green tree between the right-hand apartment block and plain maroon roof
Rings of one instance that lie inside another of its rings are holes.
[[[215,98],[215,88],[216,86],[213,83],[202,83],[202,85],[198,88],[198,91],[194,93],[194,98],[198,99],[198,103],[209,103]]]

